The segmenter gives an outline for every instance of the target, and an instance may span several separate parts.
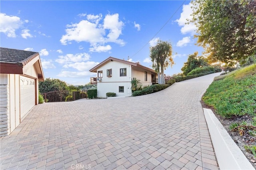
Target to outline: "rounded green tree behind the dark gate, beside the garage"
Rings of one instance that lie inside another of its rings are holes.
[[[66,82],[55,78],[46,78],[44,82],[39,82],[39,91],[41,93],[53,92],[58,90],[68,90],[68,85],[66,84]]]

